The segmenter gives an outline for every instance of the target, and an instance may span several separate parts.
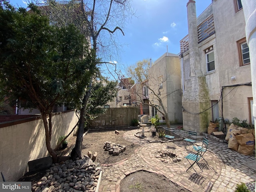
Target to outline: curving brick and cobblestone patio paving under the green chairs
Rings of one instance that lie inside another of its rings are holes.
[[[185,158],[180,162],[174,163],[162,162],[161,158],[156,158],[156,152],[159,151],[175,151],[180,152],[181,156],[186,156],[189,151],[184,149],[185,142],[174,142],[175,149],[167,148],[170,143],[150,143],[147,140],[134,136],[138,130],[130,130],[124,134],[124,138],[130,142],[139,144],[134,154],[121,162],[111,165],[102,165],[102,180],[100,182],[99,192],[120,192],[120,182],[127,175],[136,171],[149,171],[162,174],[172,182],[192,191],[212,191],[212,192],[233,192],[236,184],[240,182],[248,183],[255,181],[256,172],[243,162],[254,160],[254,156],[245,156],[236,151],[228,149],[228,144],[223,141],[216,141],[212,137],[210,140],[208,151],[204,154],[205,160],[200,161],[201,172],[197,165],[186,172],[189,163]],[[186,137],[183,130],[175,130],[175,134]]]

